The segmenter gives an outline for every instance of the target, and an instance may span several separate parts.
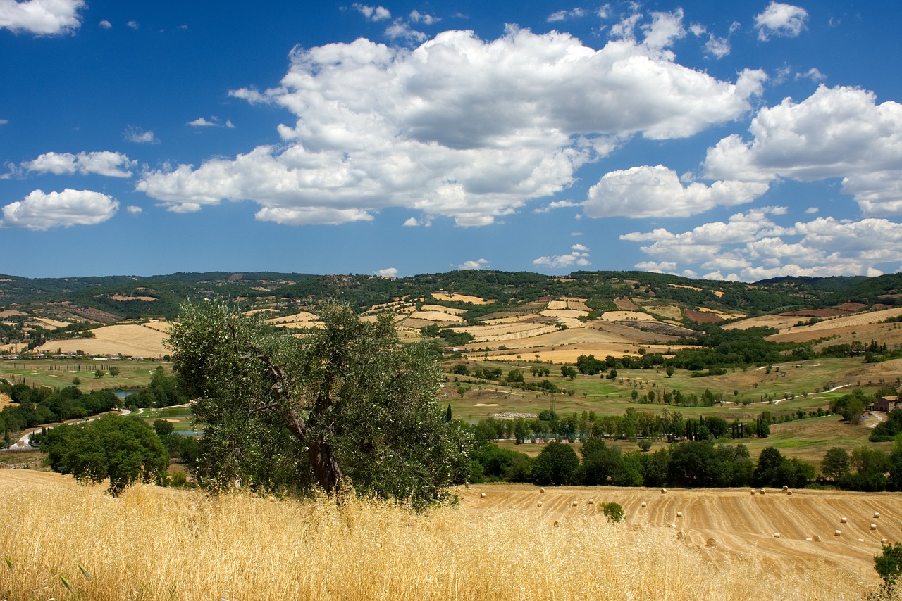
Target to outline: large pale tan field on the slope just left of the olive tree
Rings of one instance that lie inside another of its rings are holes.
[[[152,327],[148,327],[152,326]],[[160,357],[169,352],[163,346],[166,333],[160,322],[148,325],[106,325],[92,330],[95,338],[49,341],[39,347],[42,352],[84,351],[98,355],[123,353],[133,357]]]

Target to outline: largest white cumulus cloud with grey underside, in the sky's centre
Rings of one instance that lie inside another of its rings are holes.
[[[294,114],[280,145],[155,170],[138,189],[170,206],[250,200],[258,218],[280,223],[388,207],[492,223],[570,186],[631,136],[682,138],[750,111],[762,72],[723,81],[657,48],[679,16],[654,17],[650,46],[594,50],[509,27],[493,41],[451,31],[413,49],[365,39],[296,49],[279,87],[231,93]]]

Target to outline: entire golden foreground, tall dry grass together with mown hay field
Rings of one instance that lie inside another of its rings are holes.
[[[832,528],[841,513],[863,524],[874,507],[881,528],[902,520],[897,498],[886,495],[752,502],[746,492],[743,503],[740,491],[540,493],[507,485],[460,495],[459,505],[427,514],[354,498],[337,506],[143,485],[115,499],[68,477],[3,469],[0,592],[102,600],[861,599],[879,583],[866,566],[876,544],[849,537],[870,531],[849,526],[842,540],[819,543],[798,537],[821,521]],[[610,523],[590,495],[621,502],[627,520]],[[809,524],[807,514],[818,517]],[[745,532],[768,519],[783,538]],[[665,527],[668,520],[680,523]],[[707,538],[716,543],[705,546]],[[805,545],[823,552],[799,551]]]

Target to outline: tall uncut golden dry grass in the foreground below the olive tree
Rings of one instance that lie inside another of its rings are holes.
[[[708,556],[600,514],[555,527],[538,511],[150,486],[115,499],[65,481],[5,490],[0,521],[6,599],[861,599],[866,587],[826,566]]]

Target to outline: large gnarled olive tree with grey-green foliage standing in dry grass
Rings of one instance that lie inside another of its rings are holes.
[[[469,440],[437,404],[436,356],[401,344],[391,316],[362,322],[327,305],[320,317],[295,337],[223,303],[181,308],[168,344],[205,430],[198,478],[445,499],[467,473]]]

